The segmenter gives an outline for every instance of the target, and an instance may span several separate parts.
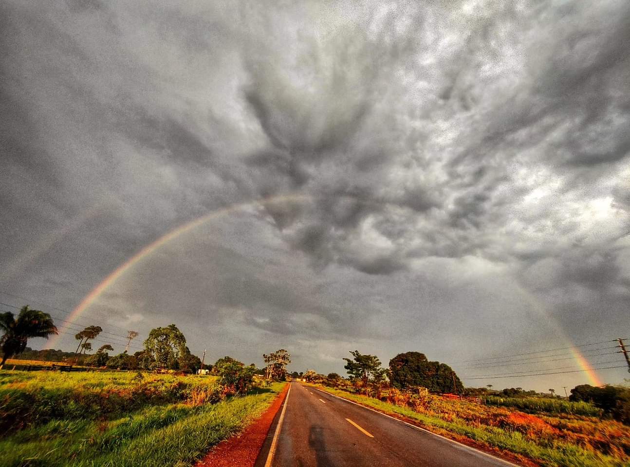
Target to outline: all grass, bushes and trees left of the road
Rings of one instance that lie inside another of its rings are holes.
[[[28,307],[2,318],[0,348],[11,366],[0,369],[0,466],[191,465],[269,407],[290,363],[280,349],[263,356],[266,368],[222,357],[206,366],[212,374],[194,374],[202,362],[174,324],[151,330],[133,356],[110,357],[108,344],[90,355],[101,328],[89,326],[76,335],[74,353],[48,352],[66,371],[14,370],[45,368],[39,359],[9,357],[29,352],[30,337],[57,329]],[[137,335],[130,331],[127,344]],[[79,359],[98,369],[77,368]]]

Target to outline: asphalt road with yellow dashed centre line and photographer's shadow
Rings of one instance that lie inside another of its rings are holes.
[[[256,467],[513,466],[311,386],[290,384],[286,408],[278,412]]]

